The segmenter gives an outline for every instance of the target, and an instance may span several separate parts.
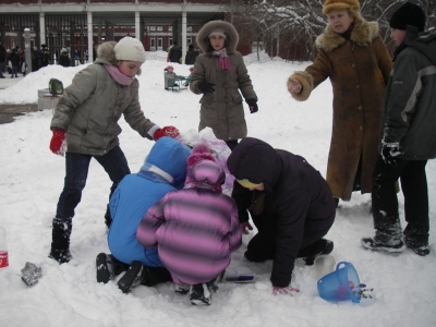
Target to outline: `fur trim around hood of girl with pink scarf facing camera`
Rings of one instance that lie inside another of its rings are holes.
[[[202,27],[202,29],[199,29],[196,37],[196,43],[199,49],[203,53],[207,53],[207,50],[209,48],[209,34],[217,28],[222,28],[223,31],[226,31],[227,53],[233,53],[237,50],[237,46],[239,43],[239,34],[232,24],[225,21],[208,22]]]

